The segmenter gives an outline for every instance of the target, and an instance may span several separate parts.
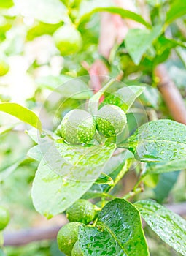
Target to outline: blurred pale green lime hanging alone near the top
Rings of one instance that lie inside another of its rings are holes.
[[[74,26],[64,25],[53,34],[54,42],[62,56],[77,53],[82,48],[82,37]]]

